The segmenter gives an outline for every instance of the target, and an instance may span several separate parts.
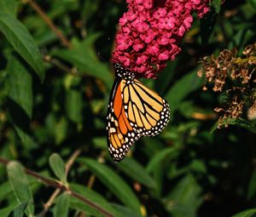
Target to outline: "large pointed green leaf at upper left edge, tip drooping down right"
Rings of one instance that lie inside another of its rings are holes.
[[[0,13],[0,31],[12,44],[14,49],[36,71],[41,82],[44,81],[44,63],[39,53],[38,46],[34,42],[26,27],[8,13]]]

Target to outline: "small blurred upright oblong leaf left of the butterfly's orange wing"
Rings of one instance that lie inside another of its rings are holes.
[[[77,89],[67,89],[66,94],[66,111],[67,116],[74,123],[82,122],[82,109],[83,109],[82,93]]]

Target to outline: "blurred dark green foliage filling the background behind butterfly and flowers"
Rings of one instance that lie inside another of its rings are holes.
[[[108,155],[105,125],[108,60],[125,1],[37,3],[70,49],[30,1],[0,0],[1,217],[256,214],[255,122],[243,117],[215,130],[221,97],[203,92],[196,75],[204,55],[255,42],[255,0],[212,1],[177,59],[158,79],[143,79],[168,100],[171,121],[118,164]]]

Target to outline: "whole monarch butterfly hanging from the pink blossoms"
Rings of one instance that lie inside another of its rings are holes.
[[[169,105],[141,83],[134,72],[113,64],[113,83],[107,117],[108,151],[114,162],[122,160],[136,140],[159,134],[169,121]]]

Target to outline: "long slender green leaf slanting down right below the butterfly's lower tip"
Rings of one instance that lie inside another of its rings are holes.
[[[106,165],[87,157],[79,158],[79,163],[86,164],[87,167],[96,174],[97,178],[108,187],[108,190],[112,191],[120,201],[137,212],[137,214],[141,214],[140,203],[136,195],[131,191],[130,186],[128,186],[118,174],[114,173],[112,168],[108,168]]]

